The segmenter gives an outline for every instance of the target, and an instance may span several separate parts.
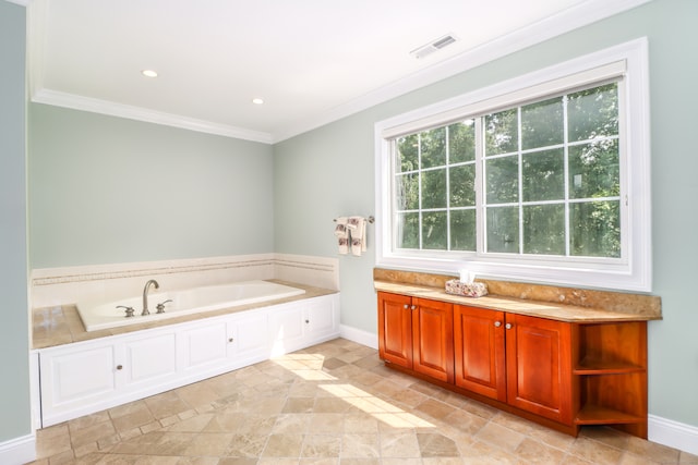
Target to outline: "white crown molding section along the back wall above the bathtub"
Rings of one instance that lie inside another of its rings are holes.
[[[32,96],[32,101],[35,103],[46,103],[73,110],[91,111],[93,113],[101,113],[129,120],[180,127],[200,133],[216,134],[225,137],[272,144],[272,135],[268,133],[50,89],[36,90]]]

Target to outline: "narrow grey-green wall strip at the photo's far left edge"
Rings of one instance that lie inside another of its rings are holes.
[[[25,9],[0,1],[0,443],[32,433],[27,309]]]

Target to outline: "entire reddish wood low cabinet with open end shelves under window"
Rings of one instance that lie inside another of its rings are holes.
[[[647,438],[647,321],[567,322],[378,292],[388,366],[576,436]]]

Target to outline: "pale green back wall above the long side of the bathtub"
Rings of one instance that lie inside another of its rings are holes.
[[[32,268],[274,252],[266,144],[29,105]]]

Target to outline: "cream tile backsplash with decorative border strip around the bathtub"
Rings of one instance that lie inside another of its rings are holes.
[[[35,269],[31,307],[131,297],[143,291],[148,279],[157,280],[164,292],[269,279],[339,290],[335,258],[258,254]]]

